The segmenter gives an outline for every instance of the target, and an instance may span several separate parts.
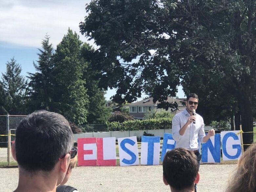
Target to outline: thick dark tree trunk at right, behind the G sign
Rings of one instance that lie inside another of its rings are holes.
[[[245,94],[246,95],[246,94]],[[240,112],[242,120],[242,130],[243,132],[253,131],[253,116],[252,116],[252,102],[249,98],[249,94],[240,99]],[[244,149],[246,150],[249,145],[253,142],[253,133],[243,133]]]

